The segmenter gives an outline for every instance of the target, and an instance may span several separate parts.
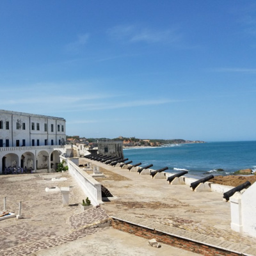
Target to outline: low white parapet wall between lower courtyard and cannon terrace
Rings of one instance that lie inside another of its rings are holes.
[[[83,172],[76,164],[71,160],[60,157],[68,164],[68,172],[74,177],[77,184],[83,190],[84,194],[90,198],[93,205],[102,204],[101,197],[101,184],[97,180],[93,179],[88,173]]]

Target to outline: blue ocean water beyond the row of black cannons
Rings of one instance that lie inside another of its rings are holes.
[[[127,148],[124,157],[150,169],[168,167],[165,172],[188,170],[191,175],[232,175],[250,168],[256,172],[256,141],[228,141],[170,144],[164,147]],[[222,169],[220,171],[218,169]]]

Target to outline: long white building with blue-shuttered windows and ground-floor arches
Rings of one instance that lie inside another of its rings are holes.
[[[66,120],[0,110],[0,173],[8,166],[56,170],[65,149]]]

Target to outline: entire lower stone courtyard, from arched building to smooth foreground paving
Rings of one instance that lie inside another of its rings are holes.
[[[66,177],[66,181],[52,178]],[[63,207],[60,191],[70,188],[70,202]],[[148,240],[109,227],[104,207],[82,211],[86,196],[68,173],[41,173],[0,176],[0,209],[18,212],[22,202],[23,219],[0,221],[0,255],[196,255],[162,244],[148,246]]]

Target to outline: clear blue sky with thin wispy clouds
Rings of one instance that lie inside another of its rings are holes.
[[[85,138],[256,140],[255,0],[2,0],[0,109]]]

